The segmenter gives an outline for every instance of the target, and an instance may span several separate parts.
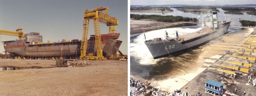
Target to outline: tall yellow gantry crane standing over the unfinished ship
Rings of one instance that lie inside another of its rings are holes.
[[[102,11],[105,10],[105,13]],[[86,55],[86,49],[88,45],[88,27],[89,27],[89,20],[93,20],[94,26],[94,34],[95,34],[95,44],[97,49],[97,56],[88,56]],[[118,25],[118,20],[115,17],[111,17],[108,15],[108,8],[107,7],[99,7],[97,9],[84,11],[84,23],[83,23],[83,35],[82,35],[82,42],[81,42],[81,56],[80,60],[88,60],[88,59],[95,59],[95,60],[105,60],[102,56],[102,39],[101,39],[101,31],[99,23],[106,24],[106,26],[110,26],[109,32],[115,32],[115,25]],[[114,27],[111,27],[114,26]]]

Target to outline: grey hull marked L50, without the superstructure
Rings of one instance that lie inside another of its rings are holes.
[[[205,37],[197,37],[196,40],[186,40],[177,42],[175,40],[172,41],[152,41],[152,42],[145,42],[147,48],[149,49],[150,53],[152,54],[154,59],[172,56],[178,53],[186,52],[192,50],[194,48],[198,48],[202,46],[212,39],[216,39],[221,35],[227,33],[229,28],[230,22],[225,23],[223,26],[218,28],[216,31],[211,32],[209,35]]]

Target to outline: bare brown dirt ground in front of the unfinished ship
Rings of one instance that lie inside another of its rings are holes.
[[[38,64],[37,64],[38,63]],[[0,71],[1,96],[127,96],[127,61],[86,61],[84,67]],[[1,65],[51,66],[53,60],[0,59]]]

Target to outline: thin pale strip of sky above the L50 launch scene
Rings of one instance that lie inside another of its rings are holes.
[[[256,4],[256,0],[131,0],[131,5],[224,5],[224,4]]]

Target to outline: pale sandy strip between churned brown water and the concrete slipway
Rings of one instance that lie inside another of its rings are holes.
[[[245,28],[245,31],[248,35],[251,34],[254,30],[251,27],[243,27]],[[225,36],[224,38],[229,38]],[[163,80],[155,80],[155,79],[149,79],[148,82],[152,84],[152,86],[156,86],[158,88],[161,88],[163,90],[172,91],[172,90],[181,90],[187,83],[190,83],[193,79],[195,79],[198,75],[200,75],[204,70],[206,70],[210,65],[212,65],[214,62],[216,62],[218,59],[224,56],[225,52],[220,52],[217,55],[211,53],[211,48],[214,47],[214,45],[219,46],[221,42],[218,42],[216,44],[211,44],[205,46],[201,51],[198,59],[196,60],[197,63],[201,63],[201,66],[195,66],[198,67],[198,70],[191,70],[187,74],[177,74],[175,76],[171,77],[165,77]],[[141,80],[147,80],[144,79],[136,74],[130,74],[132,78],[137,78]],[[174,77],[174,78],[173,78]],[[177,82],[176,82],[177,81]]]

